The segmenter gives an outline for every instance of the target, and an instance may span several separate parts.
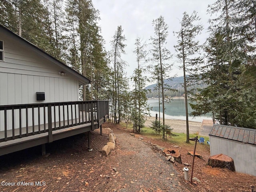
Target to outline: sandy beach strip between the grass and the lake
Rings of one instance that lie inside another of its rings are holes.
[[[162,118],[161,122],[162,122]],[[146,127],[149,127],[152,124],[152,121],[155,120],[155,117],[147,117],[146,122],[144,123],[144,125]],[[165,119],[165,124],[166,125],[170,125],[171,128],[173,128],[173,132],[176,133],[186,133],[186,121],[185,120],[176,120],[176,119]],[[200,132],[200,127],[202,125],[201,122],[194,122],[194,121],[189,121],[188,122],[189,125],[189,133],[190,134],[194,134],[196,132]]]

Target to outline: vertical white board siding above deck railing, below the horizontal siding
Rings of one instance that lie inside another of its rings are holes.
[[[0,72],[0,105],[78,101],[79,82]],[[37,101],[36,92],[45,92],[45,100]]]

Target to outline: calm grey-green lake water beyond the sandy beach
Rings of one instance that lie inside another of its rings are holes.
[[[158,99],[149,99],[148,105],[152,109],[150,110],[151,116],[156,116],[158,114],[159,118],[159,106],[158,106]],[[164,106],[166,108],[164,117],[166,119],[179,119],[179,120],[186,120],[186,109],[185,109],[185,99],[184,98],[176,98],[171,100],[169,103],[165,102]],[[162,105],[160,105],[160,111],[162,111]],[[192,112],[192,108],[188,105],[188,114]],[[160,112],[160,118],[163,117],[162,112]],[[212,119],[210,114],[206,114],[204,116],[188,116],[188,120],[202,122],[204,119]]]

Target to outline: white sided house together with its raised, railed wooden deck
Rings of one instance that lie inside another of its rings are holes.
[[[0,25],[0,155],[101,128],[108,101],[79,101],[88,83]]]

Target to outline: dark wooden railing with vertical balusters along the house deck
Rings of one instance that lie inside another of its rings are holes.
[[[91,100],[0,106],[0,142],[91,124],[92,130],[108,114],[108,101]]]

